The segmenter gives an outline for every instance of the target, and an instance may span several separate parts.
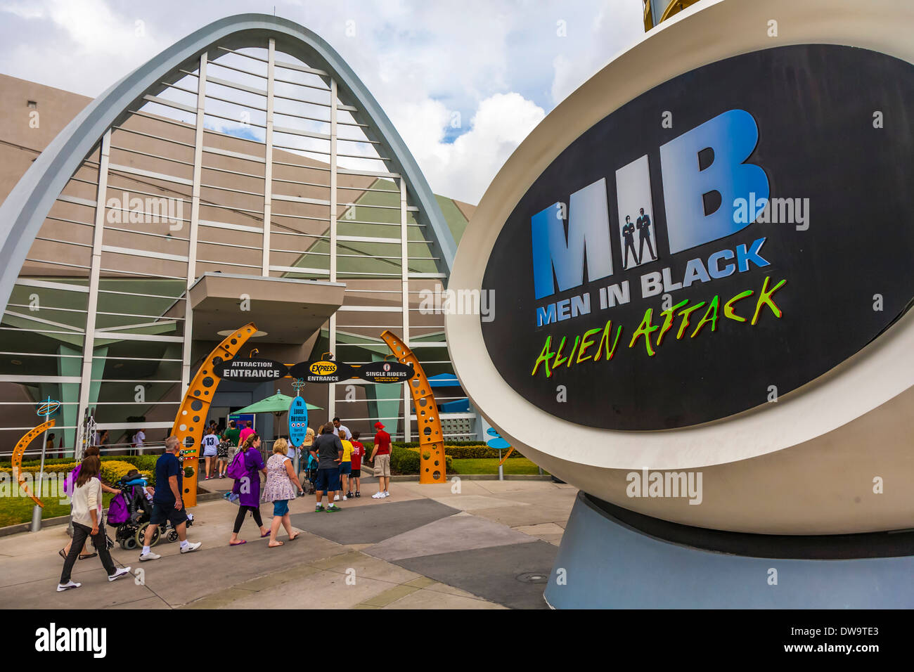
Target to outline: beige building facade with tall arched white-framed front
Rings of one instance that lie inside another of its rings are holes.
[[[457,402],[442,416],[449,438],[479,431],[443,318],[421,305],[447,283],[473,206],[431,193],[320,37],[229,17],[95,101],[3,77],[0,103],[0,451],[48,397],[61,402],[56,447],[77,443],[90,410],[110,443],[139,429],[160,442],[202,358],[250,322],[244,356],[289,364],[377,361],[390,329],[441,376],[441,404]],[[294,395],[291,383],[224,383],[210,417]],[[339,415],[414,435],[400,386],[354,379],[303,396],[322,409],[313,425]],[[276,420],[258,418],[260,432],[283,433]]]

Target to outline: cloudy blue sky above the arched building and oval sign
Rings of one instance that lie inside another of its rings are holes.
[[[642,0],[0,0],[0,72],[97,96],[216,18],[274,6],[343,56],[431,187],[471,203],[558,102],[643,37]]]

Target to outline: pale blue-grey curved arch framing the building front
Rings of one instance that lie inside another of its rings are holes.
[[[167,83],[181,79],[184,75],[180,69],[192,68],[200,54],[215,49],[217,44],[228,48],[263,47],[268,38],[276,40],[277,48],[333,75],[340,98],[356,103],[356,121],[367,123],[364,131],[369,140],[387,144],[391,152],[388,169],[402,175],[411,187],[419,206],[419,212],[414,214],[420,223],[429,226],[431,250],[438,258],[439,271],[450,272],[456,245],[441,208],[406,144],[356,73],[334,48],[307,28],[276,16],[244,14],[200,28],[133,70],[92,101],[37,157],[0,206],[0,300],[4,306],[58,194],[102,135],[129,116],[130,109],[144,95],[154,95]]]

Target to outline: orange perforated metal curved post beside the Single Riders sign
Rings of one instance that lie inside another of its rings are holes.
[[[409,380],[409,392],[416,404],[416,420],[419,426],[419,482],[444,483],[447,476],[444,471],[444,432],[441,431],[441,418],[438,417],[438,405],[431,392],[429,379],[412,350],[389,331],[381,334],[391,352],[403,364],[411,364],[416,375]],[[403,413],[409,422],[409,409]]]

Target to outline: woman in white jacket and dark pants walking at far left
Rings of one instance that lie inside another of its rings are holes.
[[[81,583],[71,581],[70,571],[76,563],[77,556],[87,537],[91,537],[95,549],[99,552],[99,560],[105,571],[108,572],[108,581],[115,581],[130,573],[129,567],[117,569],[114,567],[108,545],[105,543],[104,530],[101,525],[101,481],[96,478],[101,471],[101,460],[98,455],[90,455],[82,461],[80,477],[73,487],[73,543],[70,544],[67,560],[63,563],[63,573],[60,574],[58,592],[79,588]]]

